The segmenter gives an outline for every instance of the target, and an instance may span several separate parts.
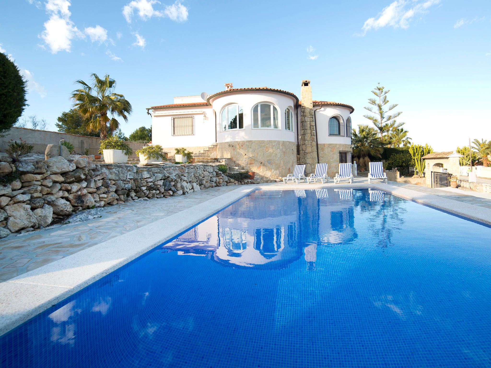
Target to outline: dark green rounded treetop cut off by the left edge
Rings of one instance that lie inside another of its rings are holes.
[[[21,117],[27,105],[27,80],[7,55],[0,53],[0,136]]]

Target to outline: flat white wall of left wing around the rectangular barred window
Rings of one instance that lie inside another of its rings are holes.
[[[193,116],[194,134],[173,136],[173,116]],[[212,107],[152,110],[152,143],[160,144],[162,147],[205,147],[215,143],[215,117]]]

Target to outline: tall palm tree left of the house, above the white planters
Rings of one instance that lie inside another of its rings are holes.
[[[120,116],[128,122],[132,107],[123,95],[114,93],[116,81],[109,78],[109,75],[100,79],[93,73],[91,78],[92,87],[80,79],[75,82],[80,84],[81,88],[72,92],[71,99],[75,101],[74,107],[87,119],[87,130],[100,131],[101,138],[106,139],[108,130],[115,131],[119,127],[119,122],[114,116]]]

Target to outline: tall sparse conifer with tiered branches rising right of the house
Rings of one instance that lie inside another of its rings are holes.
[[[372,93],[378,97],[378,101],[376,98],[368,99],[368,103],[375,106],[376,110],[374,110],[374,107],[371,106],[364,107],[366,110],[374,113],[375,116],[368,114],[363,115],[365,118],[372,121],[377,130],[380,132],[381,139],[383,139],[384,133],[388,134],[390,131],[395,131],[404,125],[404,123],[396,122],[396,118],[402,114],[402,111],[393,112],[392,114],[387,115],[389,111],[392,111],[395,107],[397,107],[397,104],[389,105],[388,108],[384,107],[389,103],[389,100],[387,100],[387,93],[390,92],[390,89],[385,90],[384,88],[385,87],[381,87],[379,83],[379,85],[372,91]]]

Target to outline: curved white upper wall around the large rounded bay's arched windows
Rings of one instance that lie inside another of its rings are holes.
[[[239,140],[283,140],[297,141],[297,122],[294,121],[293,131],[287,131],[285,127],[285,109],[290,107],[295,120],[294,97],[283,93],[267,91],[245,91],[227,93],[217,96],[210,100],[213,109],[217,112],[217,137],[218,142],[232,142]],[[252,107],[260,102],[269,102],[278,109],[278,127],[280,129],[253,129],[252,128]],[[224,106],[229,104],[239,104],[244,111],[244,129],[221,131],[220,113]]]

